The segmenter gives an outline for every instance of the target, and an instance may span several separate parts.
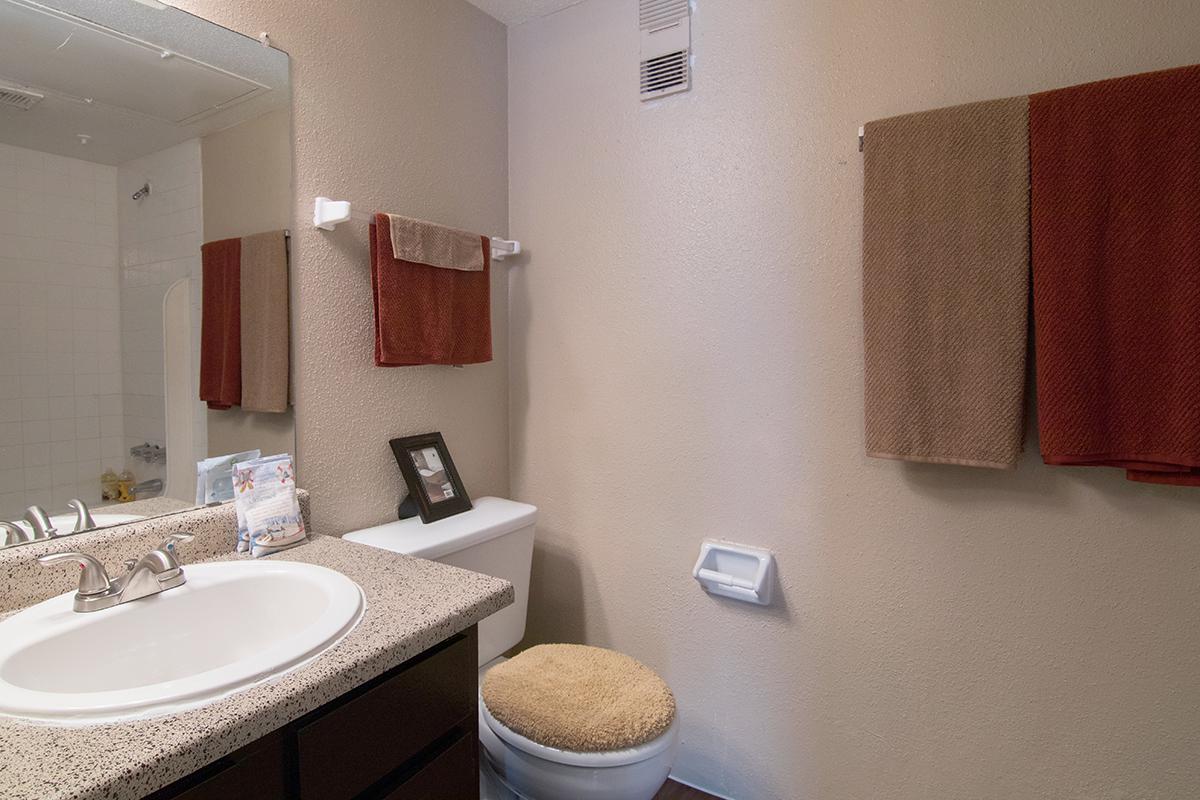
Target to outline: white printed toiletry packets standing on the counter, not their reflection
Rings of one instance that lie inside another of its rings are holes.
[[[305,540],[292,456],[268,456],[234,464],[238,552],[270,555]]]

